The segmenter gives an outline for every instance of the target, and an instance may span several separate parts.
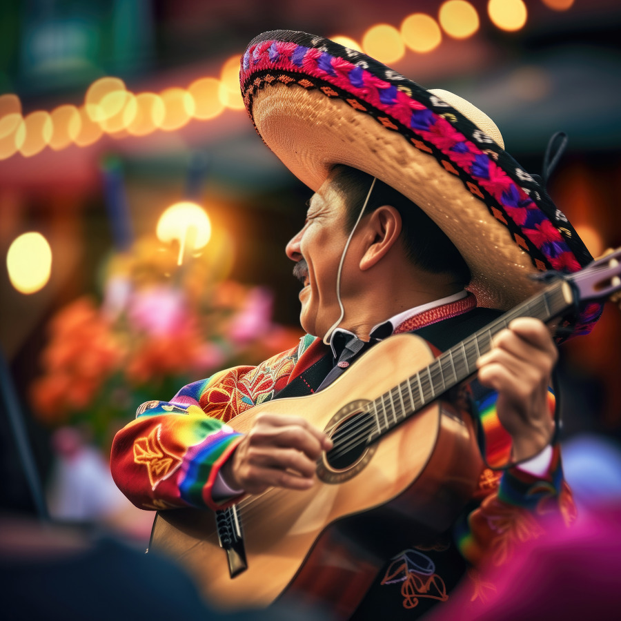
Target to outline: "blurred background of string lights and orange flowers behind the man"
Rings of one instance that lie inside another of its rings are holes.
[[[52,514],[138,542],[108,475],[145,400],[301,335],[284,246],[310,192],[243,110],[246,44],[275,28],[368,52],[487,112],[593,255],[621,245],[618,0],[3,0],[0,506],[34,512],[6,395]],[[566,476],[621,496],[621,313],[562,346]]]

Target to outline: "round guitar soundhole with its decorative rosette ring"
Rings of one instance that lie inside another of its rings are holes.
[[[326,430],[333,448],[324,453],[317,467],[317,476],[326,483],[341,483],[361,471],[375,453],[376,445],[367,446],[373,431],[373,418],[366,411],[365,400],[357,400],[341,408]]]

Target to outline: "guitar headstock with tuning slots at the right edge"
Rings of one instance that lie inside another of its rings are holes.
[[[610,299],[621,308],[621,248],[607,250],[566,279],[577,290],[580,302]]]

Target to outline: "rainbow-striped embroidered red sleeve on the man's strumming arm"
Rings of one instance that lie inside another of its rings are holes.
[[[286,385],[301,347],[258,366],[237,366],[181,388],[168,402],[142,404],[115,435],[112,477],[141,509],[210,507],[219,468],[242,440],[226,424]]]

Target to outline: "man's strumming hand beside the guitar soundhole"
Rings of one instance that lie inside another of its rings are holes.
[[[261,414],[220,473],[233,489],[258,494],[268,487],[304,490],[332,440],[299,416]]]

